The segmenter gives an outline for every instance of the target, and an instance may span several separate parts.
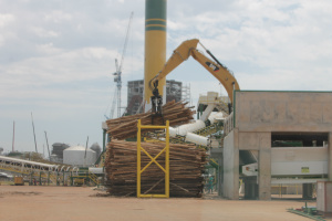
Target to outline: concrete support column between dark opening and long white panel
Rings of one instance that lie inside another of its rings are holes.
[[[258,197],[259,200],[271,200],[271,134],[259,135],[258,160]]]

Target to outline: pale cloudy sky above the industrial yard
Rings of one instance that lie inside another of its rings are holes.
[[[144,76],[144,0],[0,0],[0,147],[102,145],[110,115],[115,59],[127,81]],[[332,91],[330,0],[168,0],[167,57],[183,41],[199,39],[231,70],[241,90]],[[168,74],[199,94],[225,90],[195,60]]]

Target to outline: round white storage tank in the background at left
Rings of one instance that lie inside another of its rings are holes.
[[[96,154],[92,149],[86,149],[83,146],[73,146],[63,150],[63,164],[74,166],[90,166],[94,165],[96,160]]]

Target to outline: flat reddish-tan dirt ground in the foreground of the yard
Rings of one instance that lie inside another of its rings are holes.
[[[97,192],[91,187],[0,186],[0,220],[309,220],[287,212],[288,208],[301,208],[303,201],[95,197]]]

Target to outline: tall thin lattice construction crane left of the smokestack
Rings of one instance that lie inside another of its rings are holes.
[[[115,101],[116,101],[116,106],[117,106],[117,117],[121,117],[121,108],[122,108],[121,107],[121,88],[122,88],[122,77],[121,77],[121,75],[122,75],[123,61],[124,61],[124,56],[125,56],[126,49],[127,49],[127,43],[128,43],[129,30],[131,30],[131,25],[132,25],[133,15],[134,15],[134,12],[131,13],[131,18],[129,18],[129,22],[128,22],[128,27],[127,27],[127,32],[126,32],[126,38],[125,38],[123,51],[122,51],[122,57],[121,57],[121,61],[120,61],[120,65],[117,63],[117,59],[115,59],[116,72],[113,73],[113,75],[114,75],[114,82],[116,82],[116,99],[114,99],[115,98],[115,94],[114,94],[110,118],[113,118],[113,114],[114,114],[114,109],[115,109]]]

